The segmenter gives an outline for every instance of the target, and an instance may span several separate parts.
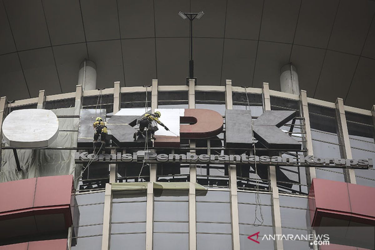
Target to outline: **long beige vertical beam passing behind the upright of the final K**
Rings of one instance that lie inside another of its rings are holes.
[[[232,99],[232,81],[225,81],[225,107],[233,109]],[[230,152],[229,154],[234,154]],[[232,220],[232,249],[240,250],[240,227],[238,216],[238,198],[237,198],[237,169],[236,165],[229,165],[229,189],[231,195],[231,220]]]

